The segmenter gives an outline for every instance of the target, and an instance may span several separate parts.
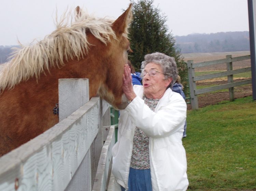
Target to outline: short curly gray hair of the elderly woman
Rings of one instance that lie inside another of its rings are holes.
[[[167,88],[172,88],[175,83],[178,71],[175,59],[173,57],[167,56],[166,54],[160,52],[154,52],[151,54],[146,54],[144,57],[144,61],[141,63],[141,71],[143,72],[145,66],[148,63],[159,64],[162,67],[163,74],[165,75],[165,79],[172,78],[172,82]]]

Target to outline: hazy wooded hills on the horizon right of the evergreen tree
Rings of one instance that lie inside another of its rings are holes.
[[[250,50],[248,31],[175,36],[181,53],[234,52]]]

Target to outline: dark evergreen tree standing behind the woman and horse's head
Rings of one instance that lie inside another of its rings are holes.
[[[154,0],[139,0],[132,2],[133,21],[130,26],[130,47],[128,59],[137,71],[140,71],[144,56],[153,52],[161,52],[174,57],[182,84],[187,86],[187,66],[179,50],[175,49],[175,39],[168,33],[165,24],[167,17],[161,10],[154,7]],[[185,89],[185,91],[188,88]]]

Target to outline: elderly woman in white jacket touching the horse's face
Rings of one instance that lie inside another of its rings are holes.
[[[186,190],[182,136],[187,107],[171,90],[177,78],[175,60],[158,52],[147,54],[141,69],[143,86],[132,87],[130,68],[124,68],[129,104],[120,111],[118,141],[112,149],[115,190]]]

